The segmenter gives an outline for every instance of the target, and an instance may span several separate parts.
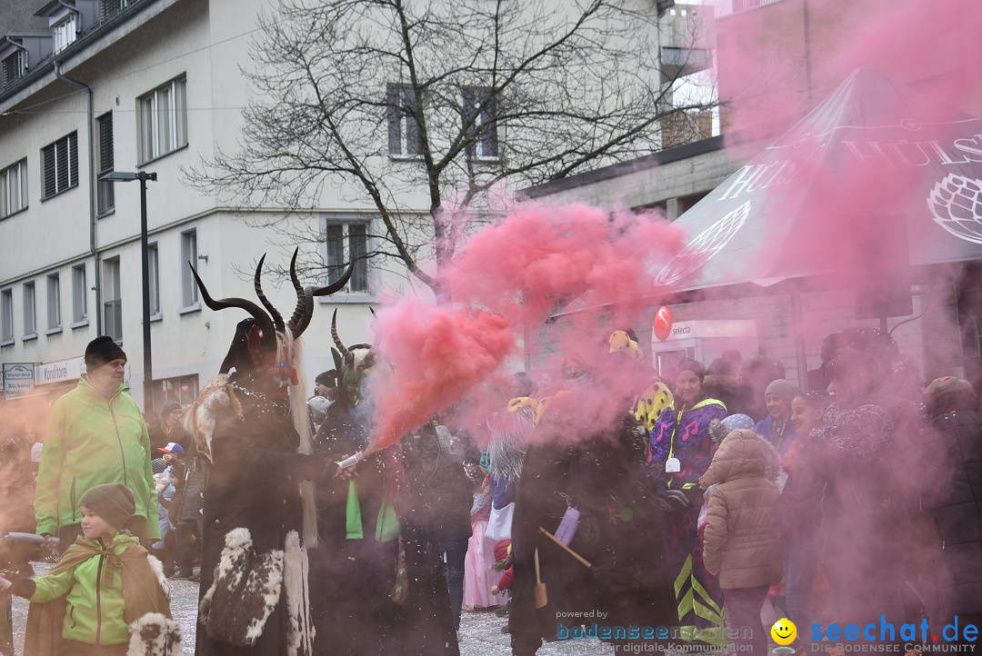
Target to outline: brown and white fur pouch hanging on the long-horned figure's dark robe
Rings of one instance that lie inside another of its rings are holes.
[[[225,535],[211,587],[201,597],[198,619],[215,640],[252,646],[280,601],[283,551],[257,552],[247,529]]]

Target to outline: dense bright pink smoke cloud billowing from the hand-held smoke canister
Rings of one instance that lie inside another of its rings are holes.
[[[659,291],[655,275],[683,242],[682,230],[655,213],[518,205],[499,225],[474,235],[445,268],[448,298],[406,298],[379,312],[375,348],[392,375],[372,383],[379,435],[373,448],[393,443],[465,396],[472,406],[504,410],[501,395],[509,394],[500,389],[503,367],[522,355],[526,337],[532,350],[531,342],[560,309],[611,304],[613,323],[631,326]],[[600,376],[603,361],[594,356],[603,352],[609,332],[598,328],[595,313],[571,314],[542,356],[543,378],[561,381],[570,356]],[[622,403],[621,387],[640,391],[641,378],[650,378],[650,370],[642,371],[643,377],[613,377],[618,384],[594,391],[596,403],[580,404],[583,412],[596,417],[609,400],[605,393]]]

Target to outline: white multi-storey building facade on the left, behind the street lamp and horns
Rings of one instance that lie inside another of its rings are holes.
[[[268,253],[266,266],[281,271],[290,258],[282,235],[256,226],[288,219],[298,232],[327,237],[308,245],[321,261],[348,262],[373,250],[370,235],[381,232],[370,223],[375,210],[325,185],[313,210],[244,211],[188,184],[191,168],[240,147],[252,97],[242,69],[251,64],[260,15],[275,15],[272,0],[24,4],[33,26],[6,30],[0,44],[0,362],[33,367],[36,390],[63,391],[83,373],[88,341],[110,334],[129,356],[127,381],[143,405],[139,183],[98,177],[153,173],[146,195],[154,405],[190,402],[217,373],[245,313],[204,307],[188,263],[213,297],[254,298],[259,258]],[[660,0],[650,9],[668,32],[683,34],[685,13],[673,5]],[[664,43],[682,57],[678,43]],[[380,143],[387,138],[380,126]],[[423,194],[400,206],[427,212]],[[266,294],[289,317],[293,288],[267,279]],[[301,281],[326,283],[313,273]],[[413,284],[405,268],[358,261],[348,288],[321,299],[304,334],[311,384],[333,367],[331,310],[340,308],[346,342],[371,342],[370,307]]]

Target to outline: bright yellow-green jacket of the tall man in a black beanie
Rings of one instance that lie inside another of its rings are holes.
[[[129,389],[121,384],[106,399],[82,378],[55,402],[34,491],[38,533],[54,535],[81,523],[82,494],[95,485],[121,482],[133,492],[134,515],[146,518],[147,537],[160,537],[150,437]]]

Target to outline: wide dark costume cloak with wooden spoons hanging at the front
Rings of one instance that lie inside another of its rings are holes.
[[[528,448],[521,471],[509,616],[515,656],[534,654],[543,637],[581,635],[584,623],[588,634],[613,642],[618,650],[653,650],[668,635],[647,635],[641,629],[678,624],[662,532],[667,505],[645,473],[643,438],[627,413],[629,399],[624,399],[624,416],[608,426],[575,443],[565,434],[574,427],[564,422],[562,406],[576,405],[575,396],[588,393],[580,386],[562,402],[550,403],[539,426],[542,438]],[[541,527],[562,533],[561,525],[571,522],[576,529],[569,545],[589,568],[540,532]],[[536,559],[548,591],[548,603],[539,609],[534,603]],[[576,613],[593,615],[568,619]]]

